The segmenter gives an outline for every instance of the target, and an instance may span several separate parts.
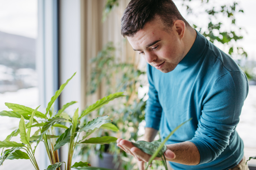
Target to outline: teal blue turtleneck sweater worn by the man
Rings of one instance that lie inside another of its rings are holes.
[[[236,125],[248,82],[233,59],[197,32],[192,48],[173,71],[162,73],[147,65],[147,74],[146,127],[160,130],[164,139],[193,118],[166,144],[190,141],[201,161],[193,166],[170,162],[175,170],[227,170],[239,164],[244,144]]]

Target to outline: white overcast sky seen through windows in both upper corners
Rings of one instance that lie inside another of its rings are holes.
[[[193,0],[189,3],[199,11],[200,6],[198,6],[198,2],[200,4],[200,1],[201,0]],[[209,2],[211,1],[219,3],[217,5],[221,6],[223,3],[233,2],[234,0],[209,0]],[[193,20],[193,18],[189,18],[189,16],[186,15],[185,10],[181,9],[180,4],[182,0],[174,0],[174,2],[185,19]],[[244,33],[243,40],[235,43],[242,46],[244,50],[247,51],[248,59],[256,60],[256,34],[254,32],[256,28],[256,14],[254,9],[256,0],[238,0],[237,2],[244,9],[244,14],[237,15],[236,22],[238,26],[245,28],[247,34]],[[36,38],[37,17],[37,0],[0,0],[0,31]],[[194,18],[198,25],[208,23],[206,19],[207,15],[201,15],[200,19]],[[217,46],[224,48],[223,46],[221,47],[221,45]]]

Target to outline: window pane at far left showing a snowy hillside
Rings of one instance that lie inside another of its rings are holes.
[[[37,0],[0,0],[0,23],[0,111],[10,111],[5,102],[36,108]],[[0,116],[0,141],[5,140],[18,125],[19,119]],[[11,141],[20,142],[20,136]],[[29,160],[15,159],[4,161],[0,169],[35,168]]]

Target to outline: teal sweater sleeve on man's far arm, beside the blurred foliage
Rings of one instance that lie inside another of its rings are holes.
[[[162,115],[162,107],[160,105],[157,91],[154,87],[153,76],[152,76],[152,68],[149,64],[147,64],[147,75],[148,75],[148,100],[146,102],[145,108],[145,127],[151,127],[156,130],[159,130],[160,120]]]

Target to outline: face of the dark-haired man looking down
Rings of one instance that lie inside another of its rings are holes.
[[[175,69],[184,54],[182,38],[174,27],[165,28],[160,19],[155,19],[127,39],[148,64],[163,73],[168,73]]]

